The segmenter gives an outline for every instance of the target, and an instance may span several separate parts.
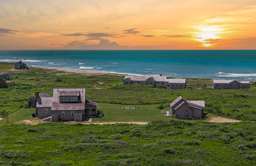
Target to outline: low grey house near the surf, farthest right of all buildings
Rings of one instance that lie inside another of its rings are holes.
[[[222,88],[222,89],[249,89],[250,82],[249,81],[236,81],[236,80],[213,80],[212,82],[213,88]]]

